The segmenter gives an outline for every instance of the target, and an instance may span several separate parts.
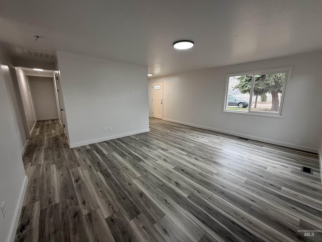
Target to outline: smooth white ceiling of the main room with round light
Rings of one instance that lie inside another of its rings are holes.
[[[0,40],[18,56],[62,50],[155,77],[322,49],[321,13],[321,0],[2,0]],[[195,46],[174,49],[181,39]]]

